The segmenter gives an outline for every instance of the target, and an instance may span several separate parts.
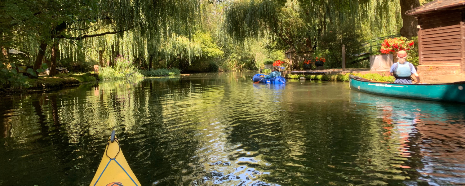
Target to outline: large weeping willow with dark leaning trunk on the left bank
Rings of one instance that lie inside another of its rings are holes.
[[[21,7],[18,2],[1,2],[4,6],[0,8],[5,11],[0,17],[10,19],[0,23],[8,28],[1,29],[2,39],[9,41],[2,46],[26,50],[35,58],[34,69],[44,56],[50,58],[51,73],[59,51],[60,56],[67,57],[97,48],[100,55],[111,53],[112,57],[117,53],[137,54],[137,58],[178,53],[175,49],[186,46],[186,38],[190,38],[193,26],[200,20],[199,0],[19,2],[24,7],[20,9],[22,16],[14,16],[14,10]],[[196,50],[191,45],[183,49],[186,55]]]

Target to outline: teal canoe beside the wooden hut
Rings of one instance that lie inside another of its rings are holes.
[[[378,95],[465,103],[465,81],[445,84],[400,84],[372,81],[349,75],[352,90]]]

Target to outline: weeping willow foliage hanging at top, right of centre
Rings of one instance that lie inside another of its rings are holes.
[[[223,29],[235,40],[266,37],[312,47],[330,28],[352,24],[371,36],[398,33],[399,3],[392,0],[237,0]]]

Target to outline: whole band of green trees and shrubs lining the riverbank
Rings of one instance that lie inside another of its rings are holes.
[[[101,79],[137,79],[166,75],[163,69],[257,70],[276,60],[289,69],[284,52],[303,44],[313,57],[327,59],[326,68],[338,68],[342,45],[346,59],[352,59],[367,50],[365,41],[415,35],[417,23],[405,18],[403,9],[419,1],[401,1],[2,0],[0,60],[7,73],[13,72],[7,64],[35,73],[45,63],[50,76],[57,67],[87,73],[99,65]],[[294,61],[292,68],[302,68],[302,62]],[[367,64],[355,60],[347,67]],[[19,80],[14,86],[26,86],[24,77],[14,77]],[[0,78],[2,84],[8,79]]]

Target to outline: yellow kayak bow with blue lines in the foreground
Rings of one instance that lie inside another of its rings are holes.
[[[105,153],[90,186],[140,186],[124,158],[115,131],[106,143]]]

